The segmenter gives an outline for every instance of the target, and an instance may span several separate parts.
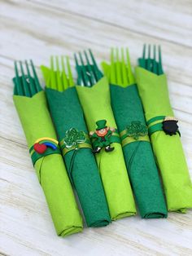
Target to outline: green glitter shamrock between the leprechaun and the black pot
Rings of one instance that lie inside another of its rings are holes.
[[[127,135],[133,137],[133,139],[137,140],[140,136],[147,134],[147,127],[143,125],[141,121],[132,121],[131,124],[127,126]]]

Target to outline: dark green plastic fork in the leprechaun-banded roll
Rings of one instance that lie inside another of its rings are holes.
[[[78,57],[76,54],[74,55],[76,62],[77,85],[89,87],[94,86],[94,84],[103,77],[103,73],[99,70],[92,51],[89,49],[88,52],[83,51],[82,54],[79,52]]]

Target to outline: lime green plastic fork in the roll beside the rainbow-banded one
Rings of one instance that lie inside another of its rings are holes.
[[[46,72],[46,67],[41,66],[42,72]],[[46,83],[47,88],[63,91],[74,86],[72,69],[68,56],[50,57],[50,81]]]

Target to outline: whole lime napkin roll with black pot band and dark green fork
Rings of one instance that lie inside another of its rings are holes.
[[[154,48],[151,58],[149,46],[136,68],[137,86],[145,111],[146,123],[151,135],[151,143],[161,177],[169,211],[185,213],[192,207],[192,184],[185,155],[181,145],[180,132],[168,97],[167,77],[161,64],[161,51],[158,56]],[[163,130],[167,129],[167,134]],[[172,130],[173,128],[173,130]],[[168,131],[169,130],[169,131]],[[174,132],[176,131],[176,132]]]

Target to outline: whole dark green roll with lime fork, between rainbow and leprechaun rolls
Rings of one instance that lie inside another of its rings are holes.
[[[59,72],[44,66],[41,69],[46,81],[46,97],[50,113],[63,148],[68,175],[76,189],[85,214],[85,221],[88,227],[107,226],[111,223],[111,218],[72,77],[71,80],[63,81],[63,76],[66,75],[64,70]],[[70,135],[76,133],[77,135],[83,133],[86,140],[76,144],[77,150],[75,147],[66,148],[64,142],[68,142],[67,139],[71,139]]]

